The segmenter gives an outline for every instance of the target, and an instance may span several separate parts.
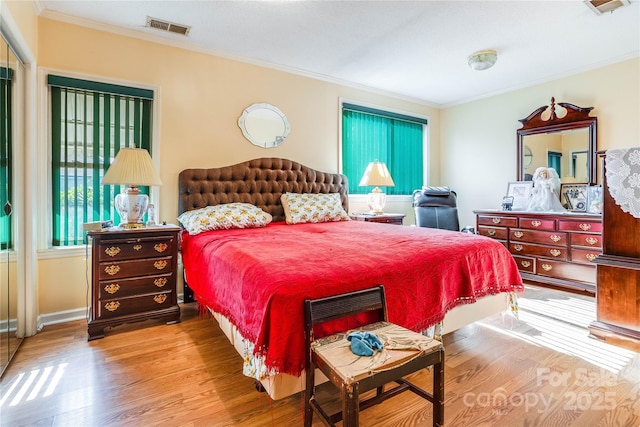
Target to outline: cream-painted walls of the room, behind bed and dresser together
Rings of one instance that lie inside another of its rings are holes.
[[[184,168],[274,156],[337,171],[340,97],[429,117],[430,183],[449,185],[458,192],[462,225],[474,223],[473,209],[499,206],[506,183],[515,179],[518,119],[548,104],[552,96],[595,107],[598,148],[634,146],[640,140],[638,59],[438,110],[49,19],[40,18],[33,25],[24,5],[11,7],[24,39],[37,51],[40,67],[157,89],[159,131],[155,137],[165,185],[154,202],[160,207],[160,219],[169,222],[175,222],[177,175]],[[237,118],[255,102],[272,103],[289,117],[292,131],[280,147],[261,149],[242,137]],[[45,123],[39,123],[40,129],[44,127]],[[46,212],[46,206],[40,208]],[[85,268],[82,256],[41,257],[39,314],[84,309]]]

